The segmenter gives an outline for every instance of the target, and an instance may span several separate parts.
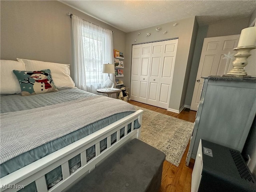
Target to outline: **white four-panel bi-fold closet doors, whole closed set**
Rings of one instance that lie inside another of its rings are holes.
[[[132,46],[131,100],[167,109],[178,39]]]

